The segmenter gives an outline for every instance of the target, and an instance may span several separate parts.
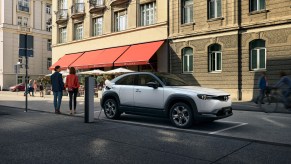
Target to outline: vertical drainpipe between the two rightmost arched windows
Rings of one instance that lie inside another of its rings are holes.
[[[242,27],[241,27],[241,0],[237,1],[237,21],[238,21],[238,34],[237,34],[237,46],[238,46],[238,100],[242,100]]]

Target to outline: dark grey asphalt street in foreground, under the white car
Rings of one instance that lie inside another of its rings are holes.
[[[5,105],[9,93],[1,95],[0,105]],[[1,163],[291,162],[290,114],[235,110],[232,117],[178,129],[160,118],[122,115],[108,120],[103,113],[98,117],[96,107],[95,122],[85,124],[81,110],[74,117],[55,115],[47,108],[50,101],[40,103],[37,97],[30,98],[38,102],[31,101],[30,107],[43,108],[24,113],[16,107],[24,103],[18,98],[17,103],[14,96],[15,107],[0,106]]]

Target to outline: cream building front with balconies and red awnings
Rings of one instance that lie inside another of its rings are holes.
[[[153,52],[147,52],[146,48],[168,37],[167,1],[53,0],[53,11],[55,65],[61,65],[64,69],[74,66],[82,70],[109,70],[119,66],[133,70],[168,70],[167,44],[156,45]],[[134,58],[129,53],[135,52],[138,49],[136,46],[145,50],[136,52],[137,56],[149,54],[149,61],[125,61],[126,58]],[[125,54],[128,57],[124,57]],[[99,61],[109,57],[107,63]],[[117,59],[123,63],[113,64]]]

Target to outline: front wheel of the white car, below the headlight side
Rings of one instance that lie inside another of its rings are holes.
[[[189,128],[193,125],[192,109],[183,102],[175,103],[170,109],[170,120],[178,128]]]

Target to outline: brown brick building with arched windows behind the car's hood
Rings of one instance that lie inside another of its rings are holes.
[[[261,71],[268,84],[291,74],[288,0],[171,0],[170,72],[192,84],[251,100]]]

